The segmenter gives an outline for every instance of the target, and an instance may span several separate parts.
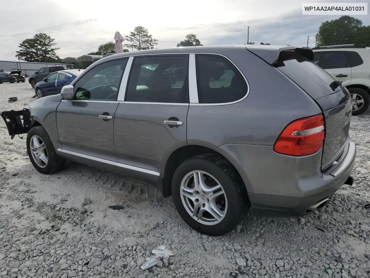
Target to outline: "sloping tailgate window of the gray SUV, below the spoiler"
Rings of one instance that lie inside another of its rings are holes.
[[[313,99],[319,99],[342,89],[340,86],[333,87],[335,79],[322,68],[296,53],[281,53],[275,67],[292,79]]]

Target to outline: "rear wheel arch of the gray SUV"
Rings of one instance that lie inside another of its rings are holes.
[[[161,180],[162,182],[161,189],[162,189],[162,194],[164,197],[169,197],[172,195],[171,182],[172,182],[172,176],[176,168],[186,159],[191,158],[192,156],[202,155],[206,153],[211,153],[215,156],[219,156],[220,158],[225,160],[227,163],[229,163],[230,166],[233,167],[238,173],[240,181],[244,183],[246,190],[248,192],[248,188],[250,188],[249,179],[240,175],[242,169],[239,163],[237,163],[236,160],[233,159],[231,155],[229,155],[227,152],[224,152],[222,150],[218,151],[218,150],[215,150],[215,149],[212,149],[206,146],[202,146],[202,145],[186,145],[186,146],[182,146],[174,150],[171,153],[171,155],[169,155],[168,159],[166,160],[165,167],[164,167],[164,174]]]

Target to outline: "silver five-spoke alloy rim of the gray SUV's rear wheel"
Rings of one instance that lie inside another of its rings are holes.
[[[186,212],[201,224],[216,225],[226,215],[226,193],[217,179],[207,172],[186,174],[181,182],[180,194]]]

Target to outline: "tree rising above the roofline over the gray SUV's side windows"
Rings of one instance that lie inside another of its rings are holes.
[[[154,46],[158,44],[158,40],[153,39],[148,29],[142,26],[135,27],[134,31],[131,31],[129,36],[126,36],[125,39],[129,43],[124,44],[124,46],[136,50],[154,49]]]

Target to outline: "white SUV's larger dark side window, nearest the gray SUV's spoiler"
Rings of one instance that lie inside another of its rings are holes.
[[[342,51],[314,52],[313,62],[322,69],[344,69],[351,67],[346,53]]]

